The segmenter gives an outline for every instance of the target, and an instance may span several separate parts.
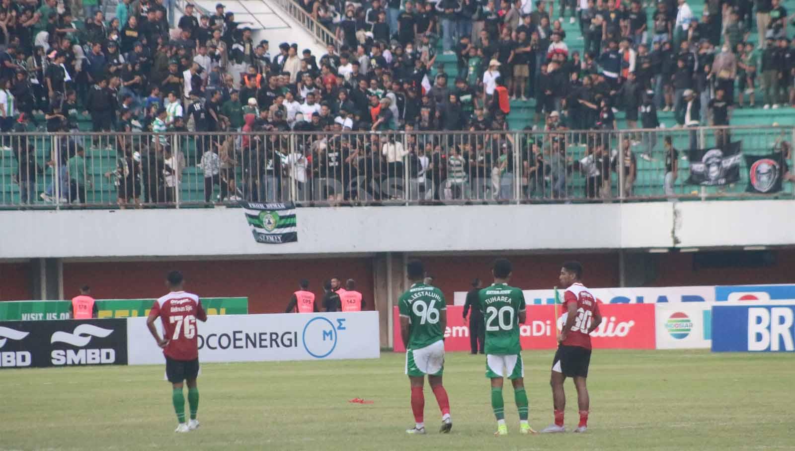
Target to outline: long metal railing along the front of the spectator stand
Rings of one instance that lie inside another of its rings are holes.
[[[7,134],[0,208],[791,199],[793,134],[772,127]],[[727,163],[698,161],[715,183],[688,181],[685,149],[721,142],[741,142],[746,157],[774,157],[751,168],[738,156],[738,173],[725,180]],[[762,184],[766,193],[747,192],[750,179],[785,176],[780,190]]]

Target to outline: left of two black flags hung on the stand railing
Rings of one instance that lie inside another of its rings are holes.
[[[732,142],[724,148],[689,150],[690,185],[727,185],[740,179],[740,142]]]

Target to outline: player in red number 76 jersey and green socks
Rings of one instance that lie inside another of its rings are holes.
[[[176,419],[180,422],[175,432],[188,432],[199,427],[196,411],[199,410],[199,388],[196,376],[199,375],[199,345],[196,339],[196,320],[207,321],[207,313],[196,294],[182,290],[182,274],[171,271],[166,277],[169,294],[154,301],[146,325],[152,332],[157,345],[165,355],[165,375],[173,384],[172,401]],[[154,322],[157,317],[163,322],[163,338],[157,333]],[[185,423],[185,398],[183,381],[188,381],[188,405],[190,422]]]

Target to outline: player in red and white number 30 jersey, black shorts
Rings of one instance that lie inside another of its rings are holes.
[[[555,409],[555,423],[548,426],[542,433],[565,432],[563,426],[563,413],[566,409],[566,394],[563,383],[567,377],[574,379],[577,389],[577,405],[580,408],[580,424],[574,432],[588,430],[588,387],[585,380],[588,378],[588,365],[591,363],[591,336],[594,329],[602,322],[599,305],[596,298],[588,291],[580,279],[583,276],[583,266],[579,262],[567,262],[560,269],[560,284],[565,286],[566,293],[563,299],[563,329],[560,336],[557,352],[552,364],[553,406]],[[557,306],[555,306],[557,308]]]

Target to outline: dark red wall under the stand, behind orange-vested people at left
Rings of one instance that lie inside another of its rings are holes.
[[[284,313],[298,281],[307,278],[320,301],[323,281],[353,278],[373,307],[372,262],[357,259],[205,260],[192,262],[64,262],[64,296],[83,284],[97,298],[160,297],[169,270],[180,270],[185,289],[200,296],[245,296],[250,313]]]

